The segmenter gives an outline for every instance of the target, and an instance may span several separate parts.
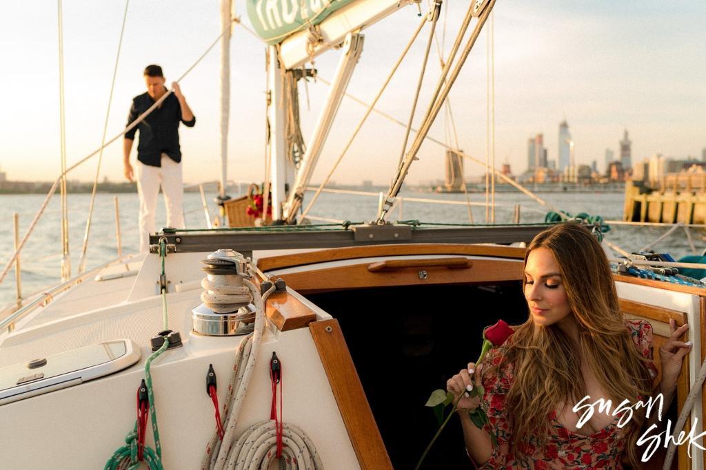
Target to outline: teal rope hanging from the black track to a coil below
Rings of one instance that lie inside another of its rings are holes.
[[[167,256],[167,242],[164,238],[160,239],[160,257],[162,258],[162,273],[164,276],[164,258]],[[167,330],[167,291],[162,287],[162,329]],[[162,466],[162,444],[160,443],[160,428],[157,425],[157,409],[155,408],[155,393],[152,390],[152,374],[150,366],[152,361],[160,357],[169,347],[169,340],[164,336],[164,343],[160,349],[153,352],[147,361],[145,361],[145,383],[147,384],[147,396],[150,403],[150,418],[152,419],[152,436],[155,438],[155,449],[148,445],[143,447],[143,459],[150,470],[164,470]],[[104,470],[138,470],[140,461],[138,460],[138,442],[137,442],[137,426],[138,421],[135,421],[135,426],[125,436],[125,444],[118,450],[113,452],[112,456],[105,463]]]

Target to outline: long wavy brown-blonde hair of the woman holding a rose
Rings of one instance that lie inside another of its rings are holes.
[[[554,225],[534,237],[525,253],[525,266],[527,256],[539,247],[549,249],[559,266],[578,323],[579,344],[577,348],[556,324],[536,326],[531,317],[515,330],[504,358],[514,364],[515,380],[505,406],[517,457],[524,453],[530,436],[539,436],[541,445],[546,445],[551,412],[561,412],[564,404],[573,406],[587,395],[582,358],[614,407],[623,400],[634,403],[638,396],[652,395],[652,378],[623,323],[610,266],[598,240],[576,223]],[[627,434],[628,458],[635,468],[639,462],[635,442],[644,420],[644,414],[633,413]]]

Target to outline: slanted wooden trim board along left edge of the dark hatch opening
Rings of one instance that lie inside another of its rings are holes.
[[[309,323],[309,330],[361,469],[392,470],[338,321],[315,321]]]

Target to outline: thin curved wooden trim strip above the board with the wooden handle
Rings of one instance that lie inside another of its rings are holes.
[[[261,271],[304,266],[306,264],[341,261],[344,259],[369,258],[371,256],[405,256],[413,254],[465,254],[495,256],[498,258],[524,259],[525,248],[503,247],[495,245],[459,245],[459,244],[410,244],[410,245],[372,245],[367,247],[347,247],[321,249],[313,252],[282,254],[258,259]]]

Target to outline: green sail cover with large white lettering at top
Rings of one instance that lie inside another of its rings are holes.
[[[356,0],[248,0],[248,17],[268,44],[318,25],[331,13]]]

